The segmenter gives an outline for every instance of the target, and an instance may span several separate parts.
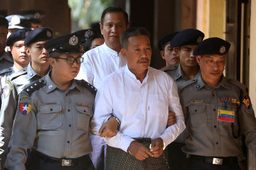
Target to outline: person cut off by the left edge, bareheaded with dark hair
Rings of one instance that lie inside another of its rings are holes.
[[[7,34],[8,21],[0,15],[0,70],[13,66],[13,58],[5,52]]]

